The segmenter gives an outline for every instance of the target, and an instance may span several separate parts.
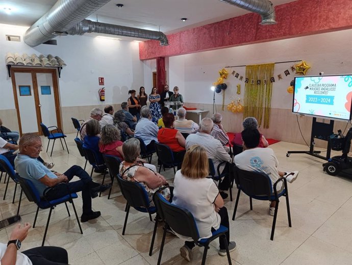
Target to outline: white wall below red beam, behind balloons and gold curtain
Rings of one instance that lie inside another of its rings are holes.
[[[271,62],[305,60],[311,66],[309,75],[352,73],[352,30],[324,33],[286,40],[271,41],[232,48],[198,52],[169,58],[170,85],[179,84],[185,102],[212,104],[212,83],[224,66],[252,65]],[[292,94],[286,92],[293,75],[278,81],[277,74],[294,63],[275,64],[271,108],[291,109]],[[245,75],[245,67],[227,68]],[[229,74],[225,103],[237,98],[237,84],[241,84],[240,97],[244,95],[244,82]],[[181,85],[182,84],[182,85]],[[216,103],[222,103],[222,93],[216,94]],[[190,106],[188,106],[190,107]]]

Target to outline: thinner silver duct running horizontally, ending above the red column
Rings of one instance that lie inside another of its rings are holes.
[[[131,28],[130,26],[120,26],[107,23],[100,23],[84,19],[72,29],[68,30],[68,35],[83,35],[85,33],[103,33],[125,37],[134,37],[160,41],[161,46],[169,45],[167,37],[160,31],[149,31]]]

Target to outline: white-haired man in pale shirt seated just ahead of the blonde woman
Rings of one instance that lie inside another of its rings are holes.
[[[186,139],[186,150],[192,145],[198,144],[203,146],[206,151],[208,158],[213,161],[215,169],[222,162],[231,162],[231,156],[222,146],[221,142],[215,139],[212,135],[213,121],[210,118],[204,118],[199,124],[199,131],[196,134],[191,134]],[[229,173],[229,167],[225,167],[226,163],[221,164],[219,170],[222,173]],[[226,174],[225,177],[219,183],[220,195],[223,199],[228,197],[228,194],[223,191],[227,191],[230,188],[230,175]]]

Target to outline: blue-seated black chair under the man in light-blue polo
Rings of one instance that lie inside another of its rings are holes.
[[[20,177],[18,176],[18,181],[20,183],[20,186],[22,188],[22,191],[24,192],[24,194],[26,194],[26,197],[29,201],[33,201],[37,204],[37,212],[35,214],[35,218],[34,218],[34,223],[33,223],[33,228],[35,227],[35,224],[36,224],[36,221],[37,221],[37,216],[38,216],[38,211],[39,211],[39,208],[41,209],[47,209],[47,208],[50,208],[50,211],[49,211],[49,216],[47,218],[47,222],[46,222],[46,226],[45,226],[45,232],[44,232],[44,236],[43,236],[43,242],[42,242],[42,246],[44,246],[44,242],[45,242],[45,237],[46,237],[46,232],[47,232],[47,228],[49,226],[49,222],[50,222],[50,217],[52,215],[52,210],[54,209],[54,207],[56,205],[59,205],[61,203],[65,203],[66,205],[66,209],[67,209],[67,213],[68,213],[68,216],[70,216],[70,212],[68,211],[68,207],[67,207],[67,203],[66,202],[69,202],[69,203],[72,203],[72,207],[73,207],[73,210],[74,210],[74,214],[76,215],[76,219],[77,219],[77,222],[78,222],[78,225],[80,227],[80,230],[81,230],[81,234],[83,234],[83,231],[82,231],[82,227],[81,227],[81,223],[80,223],[80,220],[78,219],[78,215],[77,215],[77,211],[76,211],[76,207],[74,207],[74,203],[73,203],[73,199],[76,199],[78,198],[78,195],[77,193],[69,193],[68,191],[68,187],[66,185],[66,183],[59,183],[58,185],[65,185],[67,187],[67,195],[59,198],[59,199],[55,199],[55,200],[46,200],[45,199],[45,195],[46,193],[53,189],[54,187],[51,187],[51,188],[46,188],[44,190],[44,194],[41,196],[37,189],[35,188],[33,182],[29,179],[26,179],[26,178],[23,178],[23,177]]]

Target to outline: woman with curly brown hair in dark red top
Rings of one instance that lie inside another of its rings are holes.
[[[99,151],[103,154],[114,155],[123,161],[122,142],[120,130],[114,125],[108,124],[100,133]]]

